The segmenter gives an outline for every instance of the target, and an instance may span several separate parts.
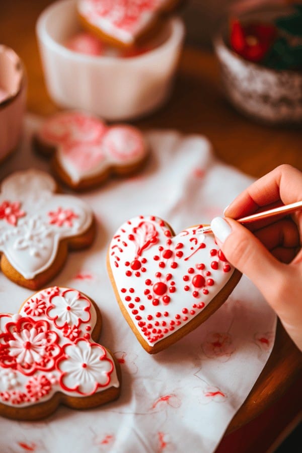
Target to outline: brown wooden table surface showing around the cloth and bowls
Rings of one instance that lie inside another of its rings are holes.
[[[0,2],[0,43],[23,59],[28,74],[27,109],[48,115],[58,110],[50,100],[43,78],[35,24],[50,0]],[[206,135],[217,157],[255,178],[288,163],[302,170],[302,128],[274,128],[252,122],[225,102],[220,91],[218,65],[210,50],[185,47],[175,88],[158,112],[136,121],[141,128],[174,128]],[[297,381],[301,353],[278,323],[272,354],[227,433],[246,424]]]

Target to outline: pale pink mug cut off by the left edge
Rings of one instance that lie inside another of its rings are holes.
[[[0,162],[19,144],[26,106],[27,81],[16,52],[0,44]]]

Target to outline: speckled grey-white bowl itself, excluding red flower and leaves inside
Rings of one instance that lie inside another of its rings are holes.
[[[286,10],[247,12],[244,22],[269,21]],[[228,27],[214,39],[223,92],[240,112],[267,124],[302,123],[302,72],[276,70],[245,60],[228,43]]]

